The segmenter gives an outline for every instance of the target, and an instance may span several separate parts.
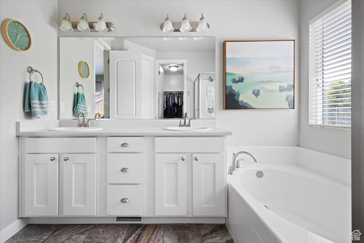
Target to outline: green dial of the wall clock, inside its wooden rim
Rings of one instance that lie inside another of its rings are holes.
[[[11,21],[7,27],[11,43],[19,50],[27,50],[30,46],[30,37],[26,28],[17,21]]]

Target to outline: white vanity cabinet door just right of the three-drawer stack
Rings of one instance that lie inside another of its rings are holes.
[[[187,215],[187,154],[155,154],[155,215]]]

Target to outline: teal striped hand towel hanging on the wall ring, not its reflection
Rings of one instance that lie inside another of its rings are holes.
[[[46,117],[48,114],[48,94],[43,83],[29,82],[25,92],[25,112],[33,118]]]

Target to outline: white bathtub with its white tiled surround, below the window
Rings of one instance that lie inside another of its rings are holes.
[[[343,184],[350,184],[350,160],[300,147],[228,147],[228,164],[230,154],[241,150],[252,152],[259,164],[242,156],[242,168],[228,176],[226,225],[234,242],[350,242],[350,235],[340,233],[350,230],[350,187]],[[263,178],[255,176],[257,169]]]

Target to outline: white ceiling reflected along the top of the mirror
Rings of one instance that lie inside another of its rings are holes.
[[[111,42],[113,45],[114,42],[122,40],[128,40],[156,52],[215,51],[215,37],[205,37],[203,40],[194,40],[193,37],[179,40],[178,37],[173,37],[169,41],[164,40],[162,37],[116,37]]]

